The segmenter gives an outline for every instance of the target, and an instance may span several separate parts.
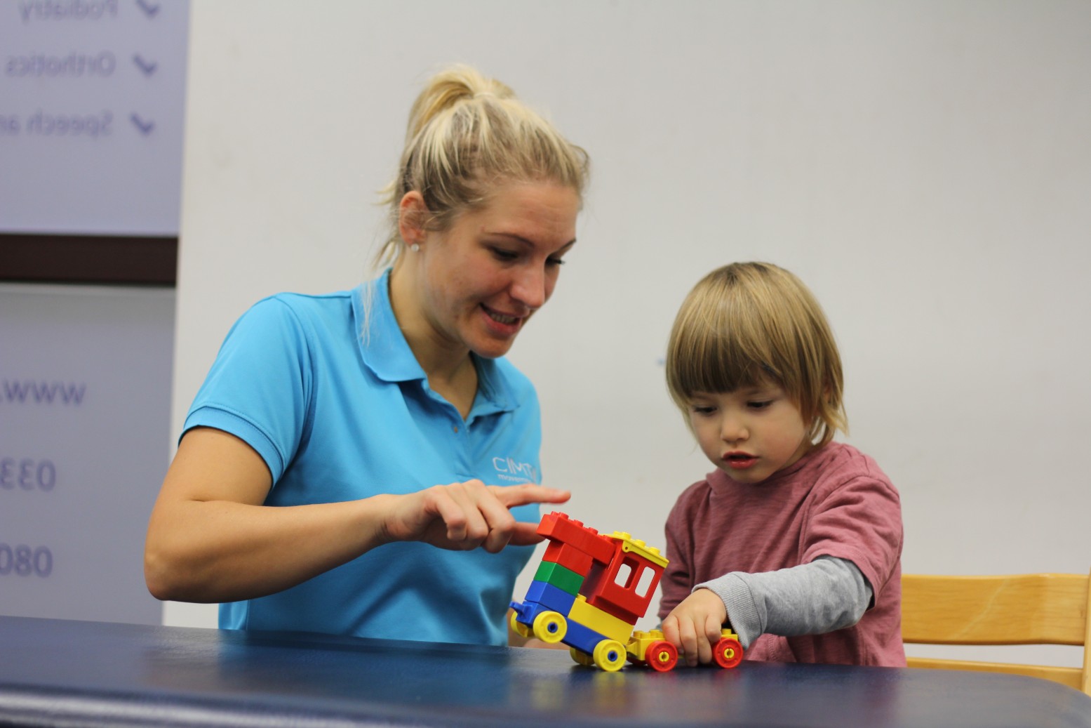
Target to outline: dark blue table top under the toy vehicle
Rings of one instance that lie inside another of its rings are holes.
[[[991,673],[744,663],[602,672],[567,653],[0,617],[0,725],[1091,728]]]

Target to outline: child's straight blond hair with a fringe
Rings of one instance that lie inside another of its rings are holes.
[[[694,286],[674,319],[667,386],[690,423],[696,393],[777,384],[825,445],[848,431],[841,357],[814,295],[771,263],[732,263]]]

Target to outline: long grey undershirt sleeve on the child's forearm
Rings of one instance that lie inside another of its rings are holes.
[[[733,571],[693,588],[710,589],[723,600],[743,648],[765,633],[825,634],[852,626],[872,601],[872,587],[856,564],[835,557],[757,574]]]

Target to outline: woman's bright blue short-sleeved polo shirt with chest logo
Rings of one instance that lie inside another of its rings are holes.
[[[273,475],[266,505],[409,493],[472,478],[541,482],[530,381],[505,359],[476,358],[478,393],[464,420],[429,387],[394,318],[388,281],[387,271],[351,291],[273,296],[228,333],[184,429],[213,427],[249,443]],[[539,520],[537,505],[512,512]],[[219,623],[506,644],[504,616],[531,552],[387,544],[285,592],[220,605]]]

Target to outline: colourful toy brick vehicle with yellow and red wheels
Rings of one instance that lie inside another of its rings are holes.
[[[542,517],[538,533],[549,546],[526,598],[512,602],[512,629],[563,642],[580,665],[613,671],[627,658],[660,672],[673,669],[678,649],[663,633],[633,629],[667,566],[659,549],[616,530],[604,536],[555,511]],[[738,635],[723,630],[714,656],[720,667],[739,665]]]

